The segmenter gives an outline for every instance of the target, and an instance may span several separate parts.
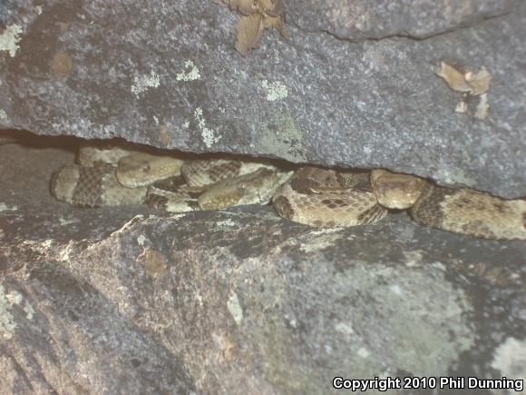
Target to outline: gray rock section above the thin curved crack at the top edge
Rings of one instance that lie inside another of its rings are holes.
[[[508,15],[517,0],[287,0],[291,22],[357,42],[388,37],[424,39]]]

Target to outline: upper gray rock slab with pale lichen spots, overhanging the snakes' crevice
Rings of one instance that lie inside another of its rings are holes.
[[[290,39],[267,31],[243,58],[239,15],[212,1],[12,0],[0,126],[383,166],[519,197],[525,15],[520,0],[288,0]],[[441,61],[488,68],[488,118],[475,103],[453,112]]]

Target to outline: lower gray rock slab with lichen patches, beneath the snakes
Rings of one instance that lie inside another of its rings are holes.
[[[338,375],[526,379],[524,242],[405,214],[323,231],[270,207],[74,209],[48,192],[73,153],[46,142],[0,146],[2,393],[326,394]]]

